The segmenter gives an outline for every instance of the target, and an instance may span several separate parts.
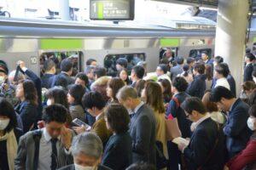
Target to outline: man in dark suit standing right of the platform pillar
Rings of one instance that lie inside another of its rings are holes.
[[[243,82],[253,81],[253,61],[255,60],[255,56],[251,53],[246,54],[245,62],[246,66],[243,72]]]

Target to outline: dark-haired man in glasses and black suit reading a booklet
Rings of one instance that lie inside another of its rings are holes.
[[[188,169],[223,169],[225,144],[222,128],[207,114],[201,99],[185,99],[182,107],[193,122],[191,127],[194,127],[189,145],[183,141],[177,143],[188,161]]]

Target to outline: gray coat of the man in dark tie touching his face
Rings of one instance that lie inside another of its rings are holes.
[[[43,135],[43,130],[41,131]],[[18,153],[15,159],[15,170],[32,170],[34,169],[34,159],[35,157],[35,133],[36,131],[31,131],[20,137],[20,142],[18,146]],[[65,153],[65,148],[62,144],[57,144],[58,150],[58,164],[59,167],[64,167],[73,163],[73,156],[67,155]],[[40,154],[40,153],[39,153]]]

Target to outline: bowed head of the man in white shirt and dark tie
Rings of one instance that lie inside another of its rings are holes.
[[[56,139],[67,121],[68,111],[63,105],[48,105],[44,108],[42,120],[49,135]]]

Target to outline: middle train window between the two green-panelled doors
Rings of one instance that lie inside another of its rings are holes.
[[[144,61],[146,55],[143,53],[137,54],[108,54],[104,59],[104,67],[107,69],[108,76],[116,76],[116,60],[119,58],[125,58],[128,61],[127,71],[130,74],[134,65],[137,65],[139,61]]]

